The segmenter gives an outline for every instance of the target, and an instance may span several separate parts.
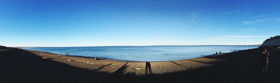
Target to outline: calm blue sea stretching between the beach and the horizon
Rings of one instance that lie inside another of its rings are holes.
[[[216,52],[258,48],[258,46],[99,46],[24,48],[72,56],[99,57],[123,61],[171,61],[198,58]]]

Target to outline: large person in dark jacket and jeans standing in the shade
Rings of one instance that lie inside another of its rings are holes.
[[[264,48],[262,50],[262,53],[261,53],[261,58],[263,58],[263,73],[264,73],[264,76],[266,76],[266,71],[267,71],[267,65],[268,65],[268,55],[269,55],[269,52]]]

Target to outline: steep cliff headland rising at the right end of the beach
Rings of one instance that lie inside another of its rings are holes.
[[[266,39],[260,47],[264,46],[280,46],[280,35]]]

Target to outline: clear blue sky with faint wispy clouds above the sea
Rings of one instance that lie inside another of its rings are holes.
[[[251,45],[280,35],[279,0],[0,0],[8,47]]]

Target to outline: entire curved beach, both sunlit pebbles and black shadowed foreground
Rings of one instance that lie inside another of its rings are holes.
[[[260,48],[223,54],[215,58],[150,62],[150,65],[146,62],[65,56],[60,58],[52,53],[0,48],[0,82],[279,83],[280,59],[274,59],[276,47],[266,48],[270,52],[268,76],[261,73],[262,62],[256,57]],[[42,59],[40,55],[48,59]],[[67,61],[69,59],[74,61]],[[138,67],[141,69],[136,69]]]

